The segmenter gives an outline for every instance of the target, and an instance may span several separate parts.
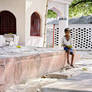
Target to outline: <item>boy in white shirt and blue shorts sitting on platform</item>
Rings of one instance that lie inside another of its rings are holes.
[[[74,67],[73,66],[73,61],[74,61],[74,53],[73,53],[73,49],[72,49],[72,40],[70,38],[70,29],[69,28],[66,28],[64,30],[65,32],[65,36],[63,37],[62,39],[62,46],[64,47],[64,50],[66,51],[67,53],[67,63]],[[71,58],[71,63],[69,62],[69,54],[72,55],[72,58]]]

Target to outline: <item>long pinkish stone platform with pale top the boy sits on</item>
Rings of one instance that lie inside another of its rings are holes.
[[[62,49],[0,48],[0,92],[23,80],[58,71],[64,65],[65,54]]]

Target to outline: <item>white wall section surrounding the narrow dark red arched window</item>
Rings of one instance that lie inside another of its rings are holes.
[[[25,11],[26,12],[26,18],[25,18],[26,46],[43,47],[46,1],[47,0],[26,0],[26,11]],[[31,15],[34,12],[38,12],[39,15],[41,16],[41,37],[30,36]]]

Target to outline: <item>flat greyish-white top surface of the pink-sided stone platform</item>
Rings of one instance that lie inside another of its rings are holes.
[[[36,48],[36,47],[23,47],[17,48],[14,47],[0,47],[0,58],[7,57],[20,57],[20,56],[28,56],[33,54],[41,54],[41,53],[50,53],[50,52],[59,52],[62,51],[62,48]]]

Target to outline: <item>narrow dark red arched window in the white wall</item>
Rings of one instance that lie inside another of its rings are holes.
[[[37,12],[34,12],[31,16],[31,36],[41,35],[41,18]]]

